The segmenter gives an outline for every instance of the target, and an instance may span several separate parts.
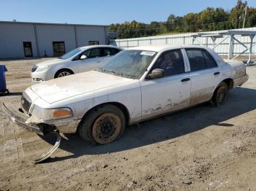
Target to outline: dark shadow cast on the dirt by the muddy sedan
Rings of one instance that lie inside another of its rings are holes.
[[[143,147],[161,141],[173,141],[178,136],[217,125],[219,128],[229,128],[233,124],[225,122],[233,117],[256,109],[256,90],[238,87],[230,91],[227,102],[220,107],[211,104],[200,104],[173,114],[157,117],[154,120],[141,122],[125,130],[124,136],[118,141],[106,145],[91,146],[78,134],[65,134],[60,149],[72,153],[67,157],[54,157],[45,161],[52,163],[81,155],[100,155],[111,152],[120,152],[127,149]]]

